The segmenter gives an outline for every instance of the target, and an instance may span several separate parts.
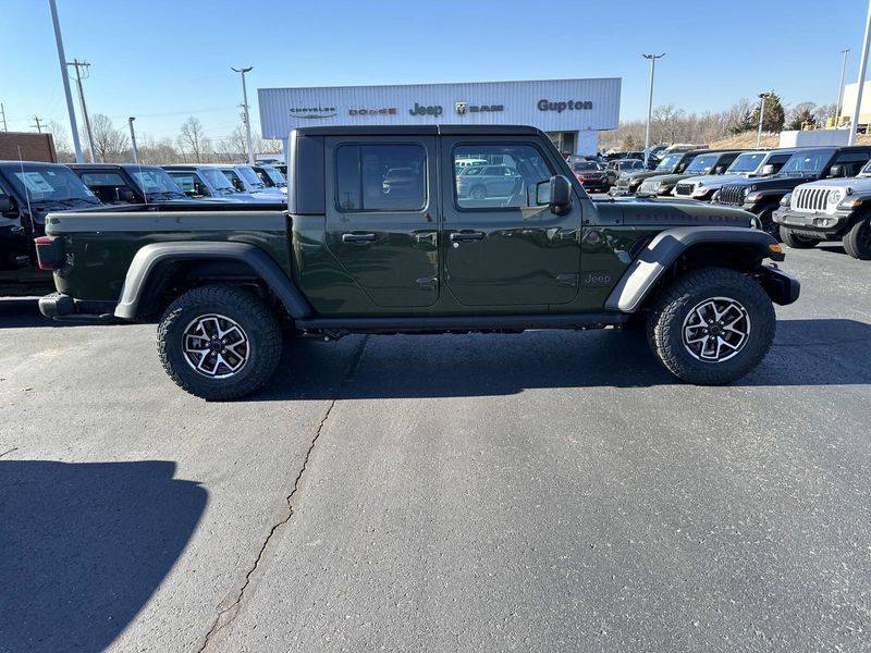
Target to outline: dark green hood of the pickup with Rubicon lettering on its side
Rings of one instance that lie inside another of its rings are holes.
[[[623,223],[646,226],[746,226],[753,214],[740,209],[697,201],[627,198],[615,200],[623,210]],[[601,205],[597,205],[600,208]]]

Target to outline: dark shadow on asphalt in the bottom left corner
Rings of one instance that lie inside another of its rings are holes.
[[[0,460],[0,651],[101,651],[207,503],[171,461]]]

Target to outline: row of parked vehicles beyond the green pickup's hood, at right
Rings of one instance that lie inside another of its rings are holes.
[[[622,173],[611,194],[739,208],[789,247],[839,239],[871,260],[871,146],[675,152]]]

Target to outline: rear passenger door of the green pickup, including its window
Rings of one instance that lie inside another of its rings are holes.
[[[436,138],[327,141],[327,246],[382,308],[439,298]]]

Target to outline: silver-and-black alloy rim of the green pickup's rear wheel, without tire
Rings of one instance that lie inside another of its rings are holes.
[[[226,316],[199,316],[184,329],[184,358],[194,370],[209,379],[226,379],[248,361],[250,341],[245,330]]]

